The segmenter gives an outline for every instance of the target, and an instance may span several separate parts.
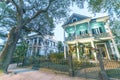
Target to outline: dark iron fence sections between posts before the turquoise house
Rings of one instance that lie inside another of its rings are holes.
[[[105,71],[109,78],[120,79],[120,62],[104,60]],[[98,61],[72,60],[74,76],[86,78],[87,80],[98,80],[101,71]],[[40,59],[40,68],[49,68],[61,72],[69,73],[68,60],[65,59]]]

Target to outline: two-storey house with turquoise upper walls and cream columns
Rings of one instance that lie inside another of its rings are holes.
[[[85,46],[93,48],[102,48],[102,56],[104,59],[120,59],[120,54],[117,45],[114,41],[110,26],[109,17],[99,17],[92,19],[91,17],[73,14],[62,26],[64,29],[64,57],[69,54],[69,44],[78,45],[82,43]],[[84,52],[81,53],[81,48],[76,47],[76,52],[73,57],[80,60],[82,56],[88,56],[90,59],[96,58],[96,52],[90,50],[90,48],[84,48]]]

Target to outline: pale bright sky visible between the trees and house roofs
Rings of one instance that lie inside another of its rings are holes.
[[[102,17],[102,16],[107,15],[107,13],[93,14],[92,12],[88,11],[87,4],[85,4],[85,5],[86,6],[84,6],[84,9],[79,9],[77,6],[71,6],[70,7],[71,8],[70,15],[72,15],[73,13],[77,13],[77,14],[85,15],[85,16],[92,17],[92,18]],[[64,41],[64,30],[62,28],[62,24],[56,25],[56,28],[54,30],[54,35],[55,35],[55,40]]]

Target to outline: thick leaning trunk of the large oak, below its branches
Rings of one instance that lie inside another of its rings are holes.
[[[0,55],[0,63],[2,64],[2,69],[7,73],[8,66],[11,62],[12,55],[15,51],[16,44],[20,37],[21,30],[18,27],[13,27],[8,34],[8,40],[6,45]]]

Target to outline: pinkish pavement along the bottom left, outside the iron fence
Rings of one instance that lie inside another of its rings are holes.
[[[40,69],[14,69],[12,73],[0,74],[0,80],[86,80],[80,77],[70,77],[65,73]]]

